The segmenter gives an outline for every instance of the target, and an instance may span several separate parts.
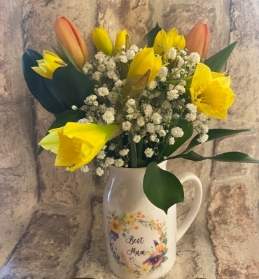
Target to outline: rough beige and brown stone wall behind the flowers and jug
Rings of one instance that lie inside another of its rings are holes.
[[[156,22],[185,34],[204,21],[212,32],[211,54],[238,40],[227,64],[236,102],[226,122],[213,124],[258,130],[257,0],[0,0],[1,279],[115,278],[107,266],[102,224],[105,177],[68,174],[53,167],[50,153],[35,155],[53,118],[28,93],[21,56],[27,48],[41,52],[55,43],[53,23],[61,15],[80,27],[91,56],[91,30],[97,25],[112,37],[127,28],[132,41],[143,45],[143,35]],[[254,132],[199,151],[210,155],[232,149],[258,158],[258,145]],[[197,174],[204,201],[178,243],[168,278],[259,278],[258,166],[179,160],[169,168]],[[189,203],[187,198],[178,207],[179,220]]]

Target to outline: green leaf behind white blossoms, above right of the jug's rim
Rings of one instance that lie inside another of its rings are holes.
[[[175,143],[173,145],[167,144],[165,149],[161,151],[159,158],[170,156],[192,136],[193,126],[187,120],[180,119],[177,123],[177,127],[182,128],[184,132],[183,136],[181,138],[175,138]]]

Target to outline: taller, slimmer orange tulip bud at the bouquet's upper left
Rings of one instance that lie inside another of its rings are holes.
[[[83,37],[75,24],[62,16],[55,21],[56,37],[65,47],[75,64],[82,69],[88,58],[88,51]]]

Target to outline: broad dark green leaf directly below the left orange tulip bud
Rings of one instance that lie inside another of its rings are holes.
[[[85,98],[94,92],[92,81],[72,64],[56,69],[53,85],[62,102],[69,108],[73,105],[81,107]]]

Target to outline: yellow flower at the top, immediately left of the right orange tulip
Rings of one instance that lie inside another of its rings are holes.
[[[159,31],[155,37],[153,47],[156,54],[161,54],[172,47],[184,49],[185,44],[184,36],[179,35],[177,29],[172,28],[167,33],[163,29]]]

